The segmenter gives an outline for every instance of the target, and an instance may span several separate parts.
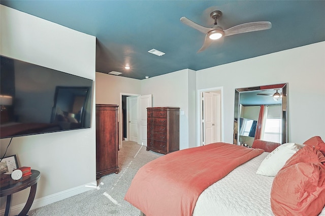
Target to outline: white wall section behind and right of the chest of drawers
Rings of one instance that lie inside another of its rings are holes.
[[[196,146],[196,125],[193,125],[195,118],[192,118],[196,110],[195,85],[192,86],[195,84],[194,76],[195,71],[184,69],[141,82],[141,94],[152,94],[153,107],[180,107],[180,149]],[[189,125],[189,122],[192,124]],[[189,140],[189,137],[194,139]]]

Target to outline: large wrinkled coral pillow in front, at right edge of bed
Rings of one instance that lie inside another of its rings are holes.
[[[290,157],[275,176],[271,208],[275,215],[318,215],[325,205],[325,161],[317,149],[305,146]]]

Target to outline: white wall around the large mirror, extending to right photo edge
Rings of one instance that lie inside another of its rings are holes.
[[[325,140],[325,42],[197,72],[197,89],[223,87],[224,142],[232,143],[235,89],[288,82],[288,141]]]

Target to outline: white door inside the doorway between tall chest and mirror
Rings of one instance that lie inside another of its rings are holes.
[[[215,140],[213,94],[203,93],[203,145]]]

